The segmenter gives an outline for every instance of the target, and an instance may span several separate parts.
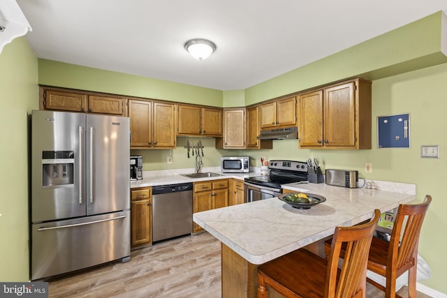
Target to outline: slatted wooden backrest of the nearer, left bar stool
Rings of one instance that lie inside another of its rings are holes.
[[[325,297],[365,297],[369,247],[379,217],[380,211],[376,209],[369,223],[335,228],[328,258]],[[346,243],[346,253],[340,274],[337,275],[340,250],[344,243]]]

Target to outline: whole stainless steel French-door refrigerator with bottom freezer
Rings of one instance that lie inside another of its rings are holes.
[[[129,118],[31,115],[31,280],[130,255]]]

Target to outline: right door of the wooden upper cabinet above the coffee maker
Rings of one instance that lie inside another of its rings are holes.
[[[175,105],[154,103],[154,147],[175,147]]]

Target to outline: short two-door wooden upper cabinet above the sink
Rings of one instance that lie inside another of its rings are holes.
[[[177,135],[206,135],[222,137],[221,109],[196,105],[178,105]]]

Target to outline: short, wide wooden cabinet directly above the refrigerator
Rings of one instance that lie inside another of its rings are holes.
[[[126,115],[127,98],[41,87],[41,110]]]

